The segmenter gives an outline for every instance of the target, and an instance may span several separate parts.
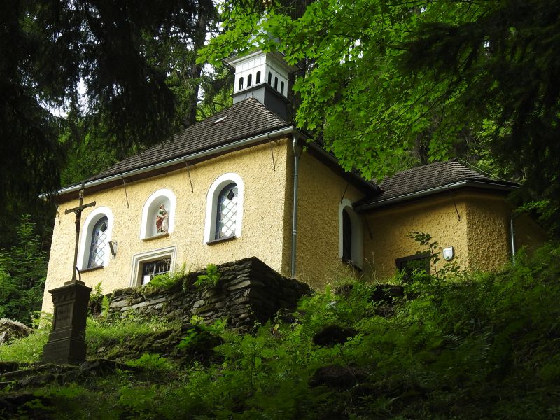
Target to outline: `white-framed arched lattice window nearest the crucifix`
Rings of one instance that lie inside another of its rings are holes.
[[[80,234],[78,269],[107,267],[111,249],[113,213],[108,207],[97,207],[87,215]]]

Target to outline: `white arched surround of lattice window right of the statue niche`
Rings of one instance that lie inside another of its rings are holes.
[[[216,216],[218,214],[218,195],[223,188],[230,183],[237,185],[237,213],[235,220],[235,237],[241,236],[241,227],[243,225],[243,197],[244,183],[241,176],[233,172],[223,174],[216,178],[208,190],[206,199],[206,220],[204,222],[204,244],[209,242],[220,241],[225,239],[215,239],[216,232]],[[229,238],[228,238],[229,239]]]

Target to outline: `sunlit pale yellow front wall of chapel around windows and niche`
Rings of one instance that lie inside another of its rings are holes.
[[[272,142],[275,170],[270,144],[197,163],[190,167],[194,192],[190,190],[186,169],[127,183],[128,207],[122,186],[91,195],[86,192],[85,202],[95,200],[96,207],[109,207],[113,212],[115,220],[111,239],[118,242],[118,252],[114,258],[111,255],[109,265],[103,269],[83,273],[82,281],[89,287],[102,281],[104,293],[128,287],[134,255],[168,246],[177,247],[177,267],[181,267],[184,262],[187,269],[196,270],[206,267],[209,262],[219,264],[256,256],[269,267],[281,272],[283,241],[286,237],[283,218],[288,205],[284,202],[288,153],[286,144],[291,143],[286,139]],[[207,245],[203,241],[207,192],[218,176],[228,172],[239,174],[244,181],[241,237]],[[172,190],[177,197],[175,228],[167,237],[143,241],[140,239],[142,208],[148,197],[160,188]],[[78,200],[60,204],[59,216],[55,218],[43,311],[52,311],[48,290],[62,286],[72,276],[75,218],[73,214],[64,215],[64,210],[77,204]],[[83,221],[90,211],[92,208],[83,211]],[[84,239],[81,237],[80,241]]]

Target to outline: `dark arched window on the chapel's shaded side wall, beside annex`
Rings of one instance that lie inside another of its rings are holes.
[[[363,233],[359,216],[348,199],[339,204],[339,257],[356,267],[363,264]]]

